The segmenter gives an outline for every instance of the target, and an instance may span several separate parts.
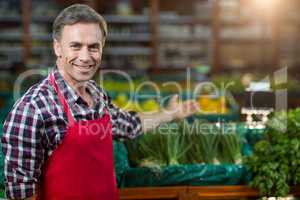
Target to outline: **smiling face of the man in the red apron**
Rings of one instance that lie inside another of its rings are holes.
[[[67,81],[90,80],[99,68],[103,35],[97,23],[76,23],[64,26],[61,39],[54,41],[58,68]]]

